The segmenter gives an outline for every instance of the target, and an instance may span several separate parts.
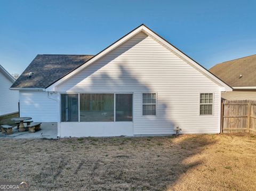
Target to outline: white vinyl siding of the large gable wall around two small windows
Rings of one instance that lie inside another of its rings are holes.
[[[133,134],[220,132],[220,87],[143,32],[57,87],[62,93],[133,93]],[[157,92],[157,115],[142,115],[142,93]],[[213,115],[198,95],[212,92]]]

